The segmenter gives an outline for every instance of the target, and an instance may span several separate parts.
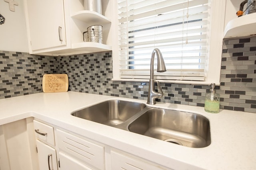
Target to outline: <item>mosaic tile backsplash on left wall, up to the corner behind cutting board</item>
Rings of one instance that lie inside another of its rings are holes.
[[[56,73],[56,57],[0,51],[0,99],[42,91],[42,77]]]

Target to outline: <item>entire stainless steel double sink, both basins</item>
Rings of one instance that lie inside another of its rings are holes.
[[[211,143],[209,120],[195,113],[108,100],[72,115],[186,147],[202,148]]]

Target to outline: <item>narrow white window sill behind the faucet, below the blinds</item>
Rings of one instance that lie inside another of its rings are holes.
[[[121,82],[149,82],[149,79],[130,79],[130,78],[112,78],[112,81],[121,81]],[[187,80],[155,80],[164,83],[173,83],[173,84],[200,84],[200,85],[209,85],[215,83],[216,86],[220,85],[220,82],[206,82],[206,81],[187,81]]]

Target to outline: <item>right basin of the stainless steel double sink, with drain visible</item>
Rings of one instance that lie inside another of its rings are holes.
[[[211,142],[208,119],[182,111],[150,109],[132,121],[128,130],[187,147],[207,147]]]

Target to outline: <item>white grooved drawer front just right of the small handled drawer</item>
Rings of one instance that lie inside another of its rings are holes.
[[[60,150],[98,169],[105,169],[104,146],[76,137],[59,129],[56,130]]]

